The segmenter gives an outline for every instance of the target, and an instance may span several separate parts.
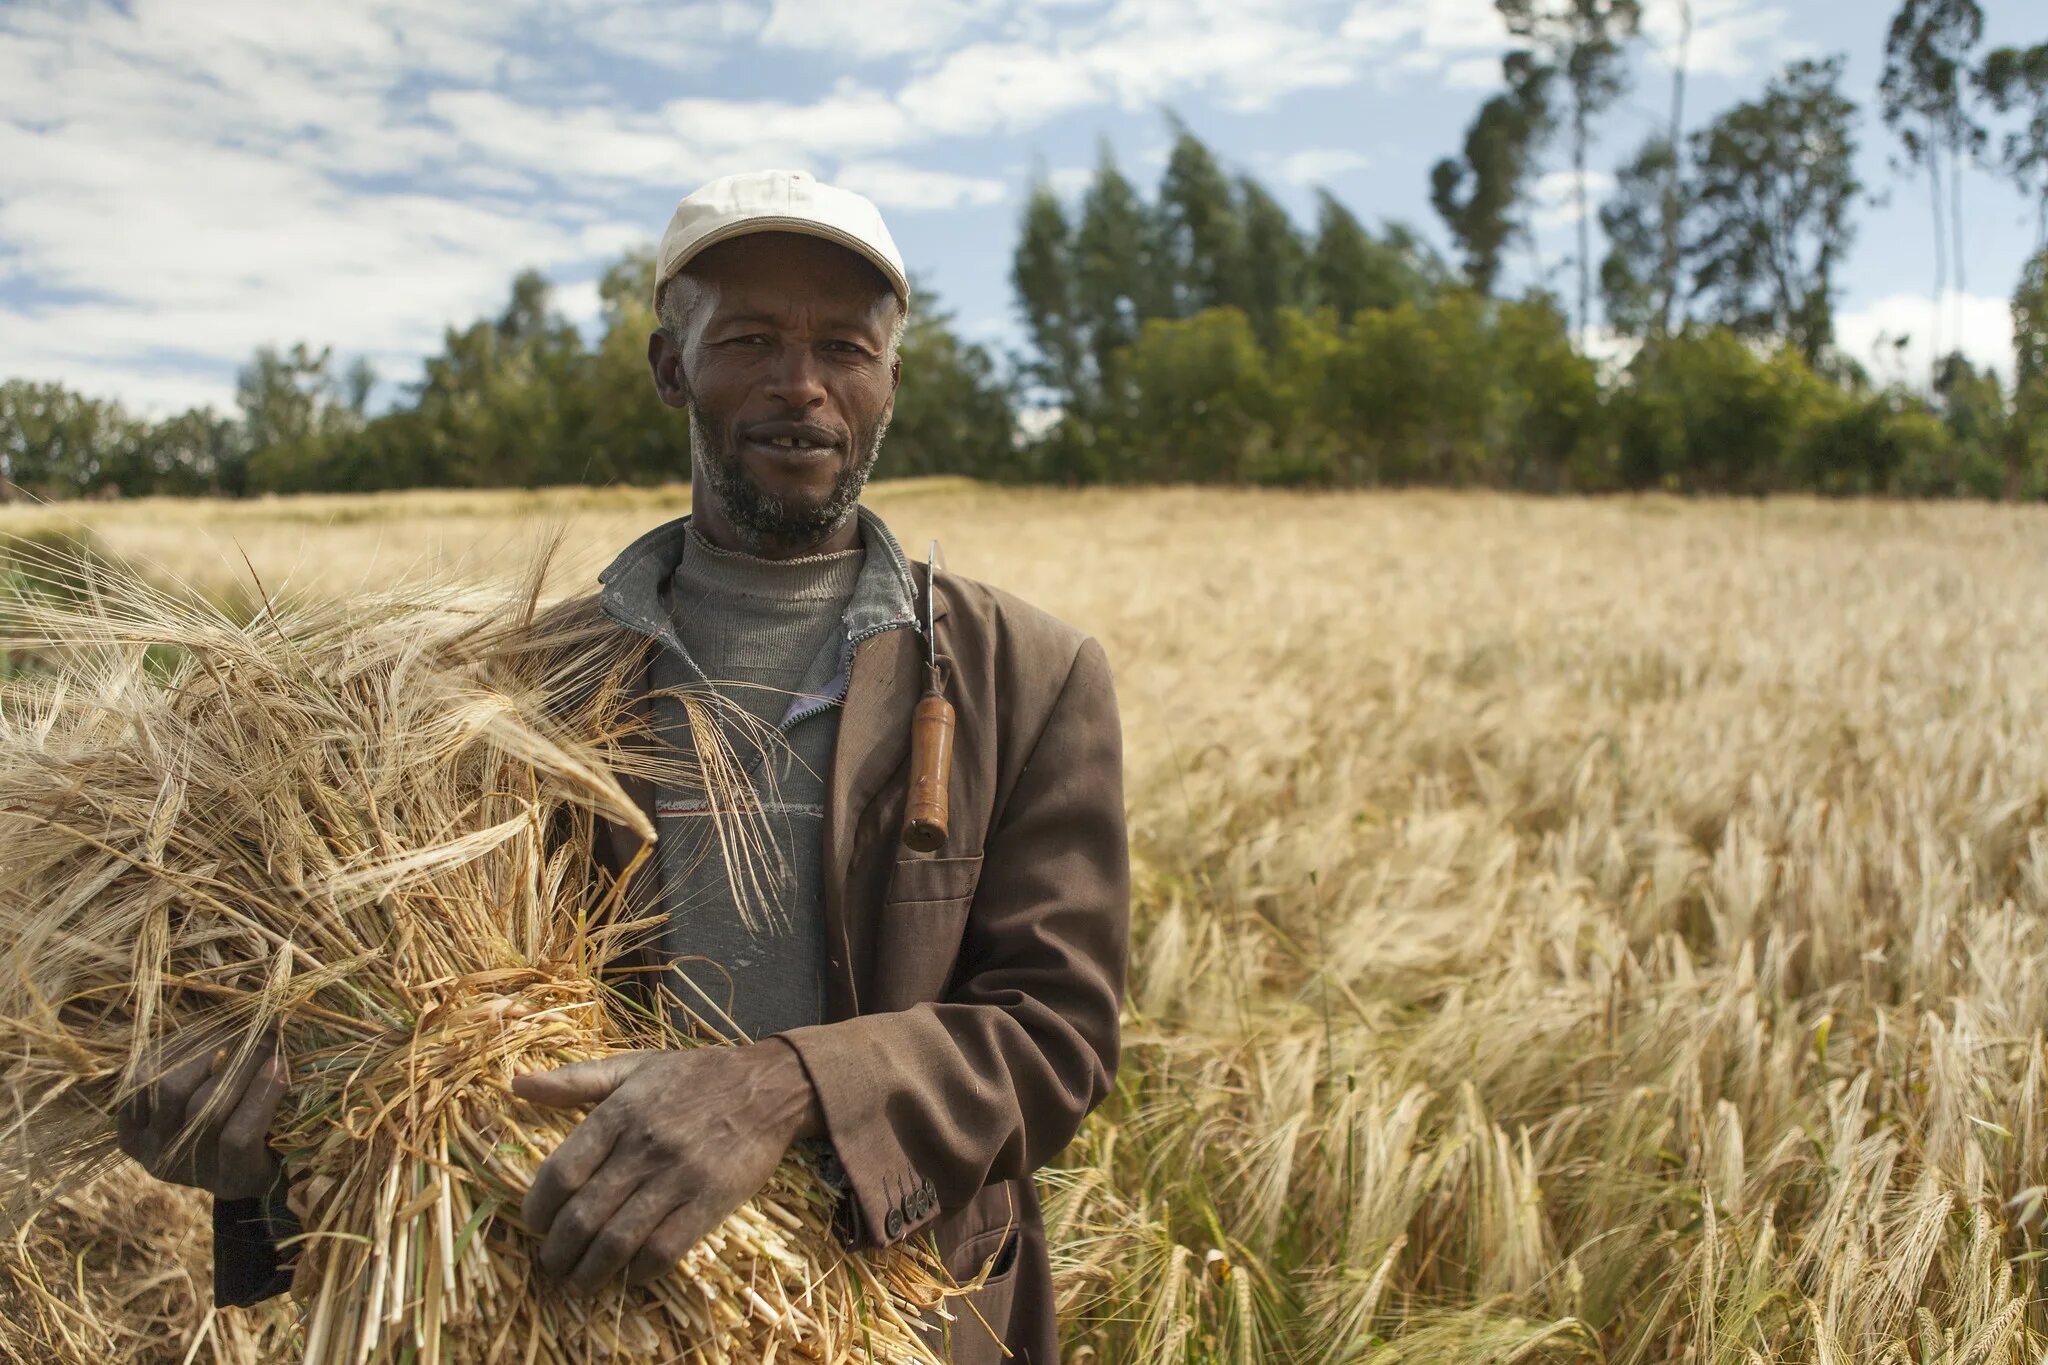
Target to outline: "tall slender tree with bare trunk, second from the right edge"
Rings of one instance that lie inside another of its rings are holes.
[[[1954,258],[1956,291],[1964,282],[1962,168],[1985,145],[1985,129],[1970,117],[1968,61],[1985,37],[1985,10],[1976,0],[1905,0],[1884,37],[1884,76],[1878,108],[1884,127],[1898,135],[1905,164],[1927,170],[1933,207],[1933,354],[1942,356],[1942,295]],[[1942,162],[1948,162],[1950,209],[1942,205]]]

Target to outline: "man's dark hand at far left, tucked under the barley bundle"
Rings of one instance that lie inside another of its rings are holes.
[[[240,1066],[215,1072],[219,1048],[178,1054],[184,1060],[115,1113],[121,1150],[156,1179],[197,1185],[215,1199],[266,1193],[279,1171],[270,1119],[285,1101],[285,1060],[274,1048],[258,1048]]]

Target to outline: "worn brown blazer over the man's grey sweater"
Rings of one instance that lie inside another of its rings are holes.
[[[1122,731],[1094,639],[950,573],[934,618],[958,724],[946,845],[901,843],[924,639],[881,630],[854,647],[827,778],[827,1021],[782,1038],[852,1185],[848,1238],[932,1234],[963,1281],[993,1261],[973,1310],[936,1328],[948,1359],[1057,1365],[1032,1173],[1116,1074]],[[651,819],[647,784],[627,788]],[[637,849],[623,829],[610,843],[614,866]]]

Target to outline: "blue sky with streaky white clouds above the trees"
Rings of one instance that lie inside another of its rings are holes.
[[[1982,2],[1991,45],[2048,39],[2038,0]],[[1931,209],[1874,108],[1888,0],[1694,10],[1692,127],[1790,59],[1847,55],[1876,203],[1837,332],[1876,375],[1923,375]],[[1645,12],[1593,168],[1667,119],[1675,0]],[[0,377],[227,409],[256,346],[305,340],[367,356],[389,401],[516,270],[594,323],[610,260],[764,166],[872,196],[918,282],[1004,352],[1032,182],[1077,201],[1106,143],[1149,194],[1167,111],[1305,225],[1327,186],[1448,250],[1430,166],[1501,47],[1491,0],[0,0]],[[1573,297],[1571,186],[1559,149],[1509,289]],[[1946,340],[2009,370],[2032,215],[1989,172],[1964,188]]]

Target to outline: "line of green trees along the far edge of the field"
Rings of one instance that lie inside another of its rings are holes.
[[[1006,481],[1235,481],[1530,491],[1808,489],[2048,497],[2048,43],[1982,53],[1976,0],[1905,0],[1878,115],[1937,223],[1925,383],[1835,344],[1841,262],[1870,188],[1841,57],[1800,59],[1700,127],[1679,0],[1669,123],[1589,203],[1591,131],[1622,96],[1636,0],[1497,0],[1501,90],[1430,180],[1442,258],[1327,190],[1298,225],[1169,115],[1151,194],[1104,145],[1079,203],[1036,184],[1010,282],[1024,348],[993,356],[915,291],[885,469]],[[1575,252],[1538,256],[1538,184],[1569,168]],[[2036,205],[2009,381],[1939,346],[1964,284],[1962,168]],[[1606,252],[1593,260],[1597,219]],[[1528,262],[1518,270],[1518,254]],[[377,375],[262,348],[236,413],[143,422],[61,385],[0,385],[0,477],[37,495],[655,483],[686,475],[645,370],[651,262],[618,260],[600,319],[537,272],[449,327],[373,413]],[[1503,282],[1530,282],[1509,295]],[[1565,274],[1567,301],[1548,287]],[[1593,299],[1608,346],[1591,346]],[[1595,352],[1606,358],[1595,358]],[[1614,358],[1626,356],[1626,358]]]

